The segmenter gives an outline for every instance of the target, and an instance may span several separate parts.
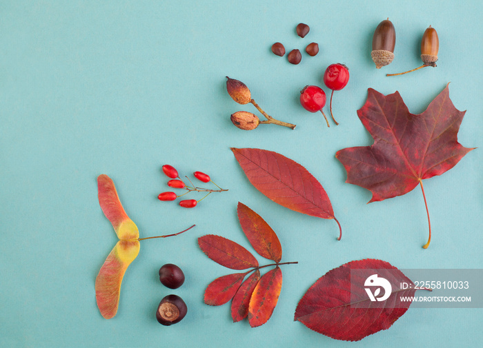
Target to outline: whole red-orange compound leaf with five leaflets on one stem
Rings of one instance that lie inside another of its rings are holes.
[[[251,327],[264,325],[273,314],[282,289],[282,270],[280,265],[297,262],[280,263],[282,246],[273,229],[252,209],[238,203],[238,218],[242,230],[253,249],[269,260],[269,265],[259,266],[255,256],[232,240],[208,234],[198,238],[198,245],[203,252],[219,265],[230,269],[248,269],[244,273],[233,273],[221,276],[206,288],[204,302],[206,305],[219,306],[232,300],[231,316],[233,322],[248,317]],[[261,276],[260,269],[275,267]],[[252,273],[250,276],[248,274]],[[248,276],[246,280],[245,277]]]

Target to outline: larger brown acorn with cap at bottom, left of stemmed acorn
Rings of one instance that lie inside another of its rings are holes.
[[[396,45],[396,30],[389,19],[377,25],[373,35],[373,50],[371,57],[377,69],[388,65],[394,59],[394,46]]]

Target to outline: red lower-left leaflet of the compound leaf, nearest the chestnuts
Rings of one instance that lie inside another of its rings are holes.
[[[206,305],[220,306],[227,303],[235,296],[245,276],[246,273],[235,273],[213,280],[205,291]]]

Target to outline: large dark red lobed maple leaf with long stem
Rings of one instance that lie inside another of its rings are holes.
[[[357,115],[373,145],[348,147],[335,155],[347,171],[346,183],[371,190],[369,203],[421,186],[429,229],[425,249],[431,242],[431,221],[422,181],[450,170],[473,150],[457,141],[464,114],[451,102],[448,85],[419,115],[409,112],[398,92],[384,96],[369,88]]]

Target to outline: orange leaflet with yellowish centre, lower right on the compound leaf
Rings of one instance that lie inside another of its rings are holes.
[[[282,290],[282,270],[277,266],[257,283],[248,305],[248,323],[251,327],[264,325],[277,305]]]

